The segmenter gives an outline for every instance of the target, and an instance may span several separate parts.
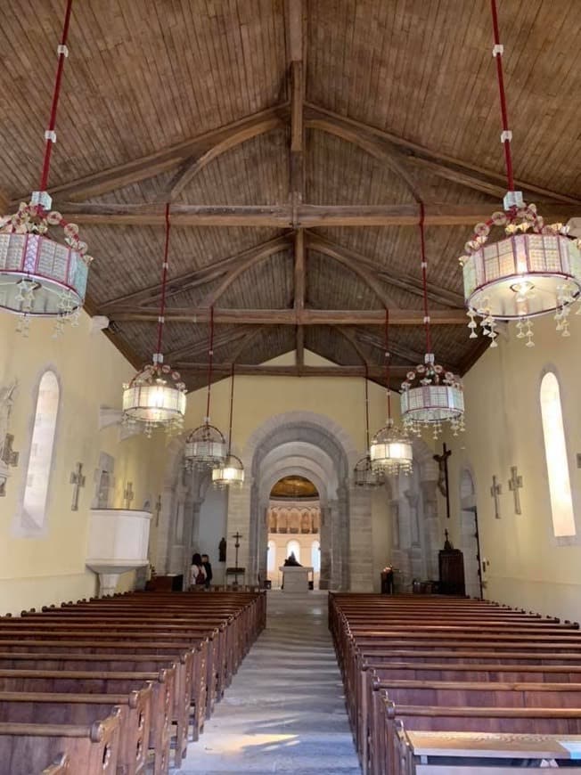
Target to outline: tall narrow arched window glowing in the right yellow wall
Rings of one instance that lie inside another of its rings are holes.
[[[541,382],[544,456],[551,494],[552,530],[555,537],[575,535],[575,515],[569,479],[569,461],[563,428],[559,380],[549,371]]]

